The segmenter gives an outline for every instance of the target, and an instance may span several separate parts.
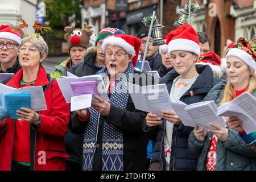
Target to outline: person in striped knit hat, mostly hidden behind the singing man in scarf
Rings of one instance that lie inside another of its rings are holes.
[[[118,30],[117,28],[103,28],[98,32],[95,47],[88,48],[88,53],[85,55],[84,60],[81,63],[74,64],[69,72],[78,77],[95,75],[100,72],[102,68],[105,67],[105,55],[101,49],[103,40],[110,35],[121,34],[124,32]],[[84,118],[86,115],[86,109],[74,111],[73,115],[75,118],[71,118],[71,121],[76,121],[78,118]],[[77,113],[77,114],[76,114]],[[71,113],[72,114],[72,113]],[[82,142],[84,139],[84,133],[73,134],[70,129],[68,129],[65,135],[65,143],[68,155],[71,158],[67,159],[67,171],[79,171],[80,162],[82,161]]]

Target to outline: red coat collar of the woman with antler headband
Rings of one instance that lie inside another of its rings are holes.
[[[9,82],[7,86],[13,86],[14,88],[19,88],[20,79],[23,75],[23,68],[20,69]],[[38,77],[36,78],[35,84],[33,86],[43,86],[49,83],[45,69],[40,65]]]

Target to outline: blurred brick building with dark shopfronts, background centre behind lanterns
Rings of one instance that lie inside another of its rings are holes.
[[[142,25],[144,16],[152,14],[154,5],[158,5],[158,20],[160,20],[159,0],[126,0],[126,10],[116,8],[119,0],[84,0],[81,9],[82,22],[93,25],[94,32],[104,27],[118,27],[127,34],[136,35]],[[176,7],[180,0],[163,0],[163,24],[164,34],[174,30],[174,22],[177,17]],[[118,10],[118,11],[117,11]]]

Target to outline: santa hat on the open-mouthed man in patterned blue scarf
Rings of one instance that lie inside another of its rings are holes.
[[[102,51],[105,53],[108,45],[119,46],[125,49],[125,51],[133,56],[133,65],[136,67],[139,56],[139,49],[141,48],[141,39],[133,35],[118,34],[108,36],[102,43]]]

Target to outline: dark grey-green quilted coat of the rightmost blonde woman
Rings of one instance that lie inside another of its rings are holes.
[[[217,105],[220,103],[225,85],[227,81],[221,81],[215,85],[207,94],[204,101],[213,100]],[[253,92],[256,97],[256,90]],[[245,144],[238,132],[232,129],[229,130],[228,140],[221,142],[217,140],[216,147],[216,166],[215,171],[241,171],[241,170],[256,170],[256,152],[251,150]],[[197,170],[205,170],[205,162],[207,153],[210,147],[213,134],[207,132],[207,136],[203,142],[196,139],[195,134],[189,135],[188,147],[189,150],[199,155]]]

